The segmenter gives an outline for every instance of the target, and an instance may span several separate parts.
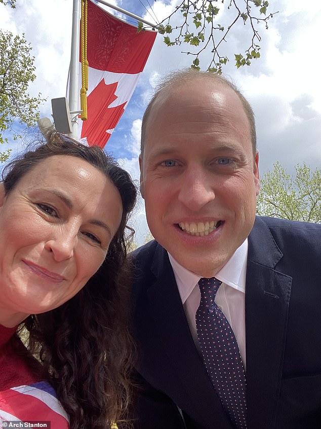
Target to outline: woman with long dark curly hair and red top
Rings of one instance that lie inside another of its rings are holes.
[[[107,429],[126,424],[131,396],[125,230],[136,188],[101,149],[47,140],[0,184],[0,422]]]

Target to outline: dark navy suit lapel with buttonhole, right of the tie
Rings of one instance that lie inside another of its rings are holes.
[[[271,429],[282,376],[292,278],[274,269],[283,254],[260,219],[249,237],[246,282],[248,428]]]

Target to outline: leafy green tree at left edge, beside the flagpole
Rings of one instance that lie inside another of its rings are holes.
[[[13,131],[16,120],[27,126],[34,124],[39,115],[38,106],[45,101],[40,93],[31,97],[27,92],[29,83],[36,78],[31,49],[24,34],[14,37],[10,31],[0,30],[0,144],[8,142],[3,133],[8,129]],[[13,132],[14,139],[19,136]],[[0,153],[1,162],[7,157],[8,151]]]

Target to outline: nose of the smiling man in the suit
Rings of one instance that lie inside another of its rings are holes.
[[[202,168],[187,169],[181,179],[178,200],[188,209],[197,211],[215,199],[213,177]]]

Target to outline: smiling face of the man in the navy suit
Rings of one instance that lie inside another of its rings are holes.
[[[253,227],[258,154],[228,86],[197,79],[167,94],[153,105],[140,159],[147,222],[176,261],[212,277]]]

